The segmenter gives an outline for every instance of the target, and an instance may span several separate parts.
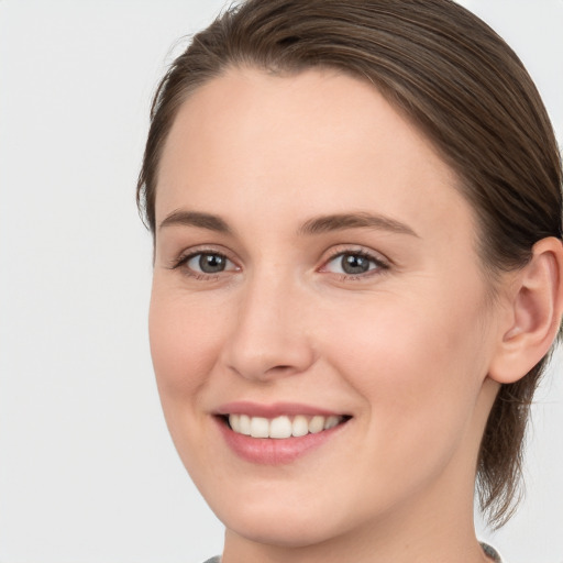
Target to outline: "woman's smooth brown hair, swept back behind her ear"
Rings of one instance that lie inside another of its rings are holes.
[[[561,157],[540,96],[510,47],[451,0],[249,0],[222,13],[154,97],[137,184],[153,233],[158,163],[176,113],[236,66],[328,67],[369,80],[457,173],[492,284],[495,273],[525,265],[540,239],[562,238]],[[547,362],[500,387],[483,437],[477,487],[496,527],[519,498],[529,407]]]

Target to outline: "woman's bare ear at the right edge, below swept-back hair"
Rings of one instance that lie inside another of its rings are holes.
[[[563,244],[550,236],[533,245],[517,272],[488,376],[498,383],[523,377],[550,350],[563,313]]]

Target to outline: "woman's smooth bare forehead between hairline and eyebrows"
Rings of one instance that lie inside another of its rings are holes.
[[[472,229],[457,178],[367,81],[334,70],[231,69],[180,108],[163,151],[156,220],[186,205],[283,216],[368,209]],[[463,216],[463,221],[461,217]],[[435,233],[434,233],[435,234]]]

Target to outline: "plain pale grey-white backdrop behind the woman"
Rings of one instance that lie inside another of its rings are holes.
[[[134,201],[151,95],[222,0],[0,0],[0,563],[189,563],[222,526],[167,434]],[[563,0],[466,0],[563,139]],[[533,408],[511,563],[563,563],[563,362]]]

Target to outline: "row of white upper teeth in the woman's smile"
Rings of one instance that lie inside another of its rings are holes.
[[[344,417],[331,415],[321,417],[319,415],[308,418],[298,415],[291,420],[289,417],[276,417],[272,420],[263,417],[249,417],[247,415],[229,415],[229,424],[239,434],[251,435],[252,438],[290,438],[301,437],[308,433],[317,434],[323,430],[330,430],[340,424]]]

